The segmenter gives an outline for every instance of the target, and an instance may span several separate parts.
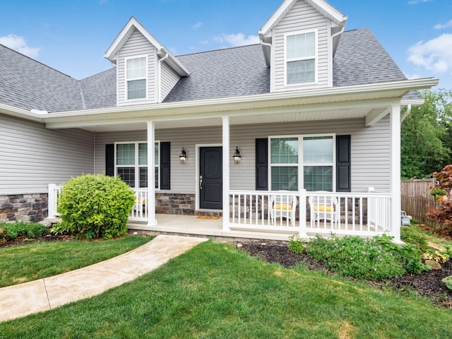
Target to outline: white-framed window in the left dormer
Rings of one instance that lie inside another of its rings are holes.
[[[146,98],[147,57],[126,59],[127,100]]]

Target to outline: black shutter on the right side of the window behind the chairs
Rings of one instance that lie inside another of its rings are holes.
[[[350,136],[336,136],[336,191],[352,191]]]

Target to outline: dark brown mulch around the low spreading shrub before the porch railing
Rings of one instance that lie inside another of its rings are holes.
[[[236,246],[246,251],[251,256],[261,258],[268,263],[280,263],[285,268],[290,268],[297,263],[303,263],[309,270],[328,270],[321,261],[307,256],[307,254],[295,254],[289,250],[287,243],[283,242],[236,242]],[[384,282],[369,282],[374,287],[383,285],[394,290],[414,290],[417,295],[428,297],[434,304],[452,309],[452,290],[446,287],[441,280],[452,275],[452,261],[441,264],[441,270],[428,270],[420,274],[405,274],[386,280]],[[353,280],[353,279],[352,279]]]

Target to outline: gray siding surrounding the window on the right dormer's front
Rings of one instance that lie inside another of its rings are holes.
[[[308,85],[285,86],[285,34],[303,30],[317,30],[317,83]],[[274,30],[274,67],[272,68],[275,83],[274,90],[294,90],[299,88],[328,86],[328,18],[316,11],[305,1],[299,0],[280,20]]]

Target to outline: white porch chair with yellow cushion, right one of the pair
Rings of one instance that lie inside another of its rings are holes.
[[[331,220],[334,228],[338,227],[340,218],[340,206],[335,196],[323,196],[331,192],[316,192],[316,196],[309,196],[309,209],[311,210],[311,227],[314,222],[320,220]]]

